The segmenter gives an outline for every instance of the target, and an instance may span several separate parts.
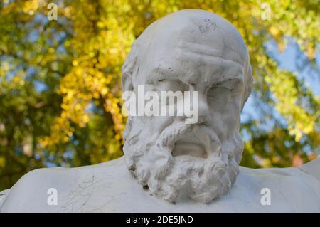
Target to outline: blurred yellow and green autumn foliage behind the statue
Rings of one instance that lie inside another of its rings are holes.
[[[58,20],[49,21],[50,2],[0,2],[0,190],[31,169],[122,155],[121,65],[146,26],[178,9],[213,11],[245,38],[259,117],[243,121],[241,164],[288,167],[319,152],[319,96],[266,46],[284,51],[292,38],[316,68],[319,1],[65,0],[53,1]]]

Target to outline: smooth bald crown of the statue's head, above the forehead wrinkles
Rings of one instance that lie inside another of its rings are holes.
[[[203,10],[181,10],[154,22],[139,37],[144,51],[198,49],[198,53],[220,56],[245,65],[248,60],[245,43],[233,25],[220,16]]]

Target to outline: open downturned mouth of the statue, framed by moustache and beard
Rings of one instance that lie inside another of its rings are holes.
[[[206,148],[200,139],[193,134],[193,132],[187,132],[176,140],[174,149],[172,149],[172,157],[181,155],[190,155],[194,157],[201,157],[203,159],[208,157]]]

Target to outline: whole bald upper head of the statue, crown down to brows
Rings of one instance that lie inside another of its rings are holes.
[[[249,54],[240,33],[217,14],[200,9],[176,11],[151,23],[134,42],[122,70],[124,90],[154,80],[150,75],[168,74],[167,70],[186,83],[216,80],[217,73],[241,74],[242,105],[252,84]]]

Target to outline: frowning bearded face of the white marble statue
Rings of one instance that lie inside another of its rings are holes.
[[[144,58],[137,60],[139,72],[132,80],[134,91],[138,85],[145,92],[198,91],[194,124],[186,125],[184,116],[129,117],[124,134],[124,154],[133,176],[146,191],[171,202],[208,203],[225,194],[242,155],[245,53],[235,50],[237,38],[225,41],[214,18],[199,21],[198,31],[186,26],[168,32],[168,40],[162,35],[162,41],[142,48],[147,51],[140,52]],[[201,36],[208,24],[214,24],[213,33]]]

